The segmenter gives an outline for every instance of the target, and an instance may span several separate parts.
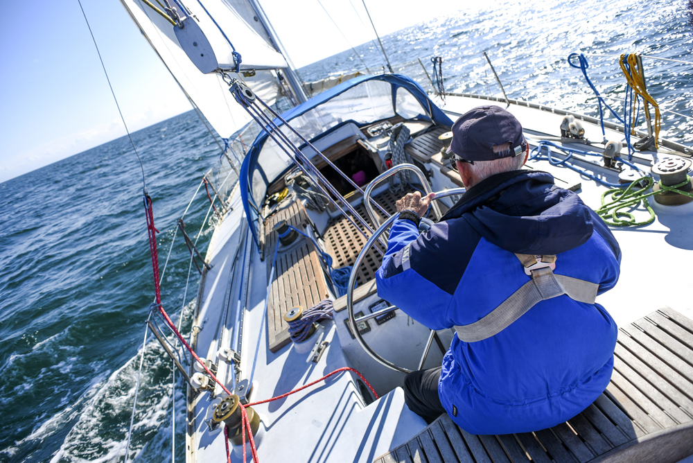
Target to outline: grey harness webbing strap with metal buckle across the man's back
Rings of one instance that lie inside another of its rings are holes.
[[[554,263],[556,256],[532,256],[515,254],[526,269],[541,263]],[[539,257],[540,259],[536,259]],[[594,304],[599,285],[590,281],[554,274],[550,266],[529,270],[532,279],[520,286],[516,292],[481,320],[464,326],[453,326],[457,338],[464,342],[477,342],[496,335],[512,322],[522,317],[538,302],[567,295],[570,299]]]

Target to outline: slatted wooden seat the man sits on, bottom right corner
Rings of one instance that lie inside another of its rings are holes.
[[[536,433],[475,436],[443,414],[376,463],[678,462],[693,453],[693,322],[671,308],[620,329],[604,394]],[[666,451],[665,451],[666,449]]]

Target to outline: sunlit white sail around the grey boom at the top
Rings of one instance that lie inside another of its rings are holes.
[[[229,86],[218,73],[202,73],[198,67],[195,67],[177,40],[175,26],[139,0],[121,0],[121,3],[183,91],[200,108],[200,111],[221,137],[230,137],[231,134],[251,121],[243,107],[236,103],[234,96],[229,92]],[[234,3],[245,3],[247,8],[250,8],[245,1],[234,1]],[[191,4],[191,6],[193,5]],[[207,27],[209,24],[213,27],[213,30],[209,31],[209,36],[216,38],[213,38],[211,42],[216,44],[219,37],[225,42],[224,37],[211,22],[207,13],[200,8],[200,4],[195,2],[194,6],[200,10],[198,12],[198,10],[191,8],[191,12],[200,18],[200,24],[202,24],[200,28]],[[207,0],[204,2],[204,6],[219,24],[224,24],[223,27],[227,35],[230,31],[233,32],[233,37],[229,36],[229,40],[243,56],[242,67],[253,67],[254,64],[258,68],[265,66],[286,67],[286,60],[283,60],[281,54],[277,53],[267,42],[267,35],[264,30],[249,26],[243,19],[245,15],[249,14],[248,10],[243,13],[236,13],[236,10],[232,10],[231,5],[225,0]],[[223,14],[222,10],[225,10]],[[209,21],[209,24],[203,20],[203,17]],[[188,18],[188,21],[191,20]],[[225,22],[220,22],[222,20]],[[230,24],[234,24],[234,26],[231,27]],[[259,24],[258,28],[262,28],[262,25]],[[207,35],[208,31],[205,30],[204,32]],[[216,35],[214,35],[215,33]],[[226,46],[230,55],[231,48]],[[277,56],[281,60],[278,60]],[[260,69],[256,71],[255,76],[249,78],[243,78],[243,76],[236,74],[234,76],[243,79],[263,101],[270,105],[281,95],[281,85],[277,80],[276,73],[271,69]]]

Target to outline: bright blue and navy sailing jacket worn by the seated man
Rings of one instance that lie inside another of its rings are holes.
[[[425,234],[396,220],[378,295],[430,329],[471,324],[529,281],[514,253],[556,254],[555,274],[598,283],[599,294],[619,275],[618,243],[576,193],[548,173],[514,171],[473,186]],[[602,306],[567,295],[539,302],[491,338],[468,343],[455,334],[441,403],[468,433],[550,428],[604,392],[616,336]]]

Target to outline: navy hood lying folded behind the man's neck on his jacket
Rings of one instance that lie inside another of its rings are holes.
[[[441,220],[462,218],[486,241],[518,254],[559,254],[586,243],[594,224],[577,193],[541,171],[492,175],[469,189]]]

